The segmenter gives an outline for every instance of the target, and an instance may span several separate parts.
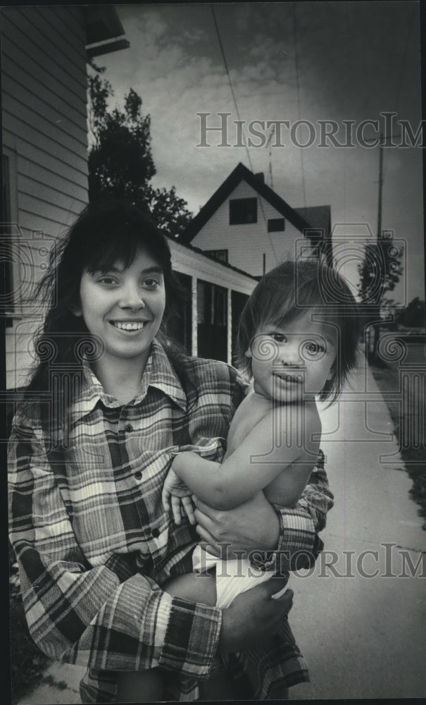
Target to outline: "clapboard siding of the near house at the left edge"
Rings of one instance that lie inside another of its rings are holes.
[[[46,251],[88,200],[82,8],[4,7],[1,35],[2,138],[13,165],[11,220],[19,227],[12,240],[19,260],[13,262],[15,316],[6,329],[6,381],[15,387],[27,379],[30,338],[39,324],[25,301],[44,271]]]

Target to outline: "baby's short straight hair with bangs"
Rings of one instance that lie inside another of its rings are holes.
[[[361,334],[357,307],[348,284],[332,267],[307,259],[282,262],[261,278],[244,306],[237,334],[237,364],[251,376],[251,358],[245,353],[256,331],[265,324],[288,324],[315,309],[318,320],[336,326],[339,332],[333,374],[319,395],[332,403],[357,364]]]

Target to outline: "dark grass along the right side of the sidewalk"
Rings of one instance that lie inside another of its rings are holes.
[[[384,398],[394,424],[394,433],[400,443],[400,452],[408,475],[411,477],[413,486],[410,490],[411,497],[419,505],[418,513],[426,519],[426,458],[425,458],[425,429],[418,429],[418,422],[426,419],[426,400],[424,391],[417,389],[415,398],[411,393],[411,403],[404,415],[401,413],[401,404],[397,400],[389,400],[386,393],[399,391],[400,378],[399,369],[384,362],[370,361],[372,375],[377,382],[380,391],[384,393]],[[422,396],[423,395],[423,396]],[[420,418],[419,418],[420,417]],[[417,429],[417,431],[416,431]],[[417,436],[416,436],[417,433]],[[419,435],[422,436],[423,443],[419,443]],[[426,521],[422,528],[426,530]]]

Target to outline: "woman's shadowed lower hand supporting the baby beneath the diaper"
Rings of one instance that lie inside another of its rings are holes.
[[[273,577],[238,595],[230,607],[223,610],[219,653],[242,651],[277,633],[292,608],[293,591],[286,590],[279,599],[272,599],[272,595],[280,591],[287,580]]]

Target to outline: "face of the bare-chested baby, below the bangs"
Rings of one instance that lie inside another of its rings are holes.
[[[264,324],[253,338],[254,391],[279,403],[314,399],[334,372],[337,329],[308,311],[287,324]]]

